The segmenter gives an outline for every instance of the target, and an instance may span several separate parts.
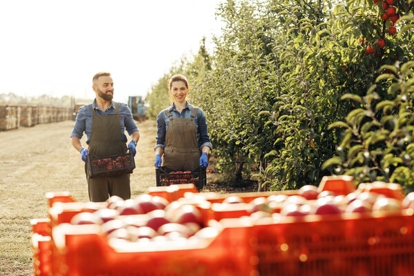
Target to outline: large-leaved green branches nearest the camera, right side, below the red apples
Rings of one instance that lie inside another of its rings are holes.
[[[375,180],[414,188],[414,61],[400,66],[383,66],[394,74],[379,75],[362,97],[360,108],[346,117],[344,136],[337,156],[324,168],[335,174],[352,175],[357,183]],[[382,99],[377,90],[384,86],[392,99]],[[351,99],[351,97],[344,97]]]

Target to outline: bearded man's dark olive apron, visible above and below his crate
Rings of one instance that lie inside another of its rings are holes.
[[[92,105],[90,107],[92,108]],[[92,115],[92,131],[88,144],[89,154],[94,158],[102,158],[125,153],[127,148],[124,139],[121,137],[118,103],[115,103],[115,114],[113,115],[97,115],[93,108]],[[110,195],[121,193],[119,195],[121,197],[128,197],[128,193],[130,193],[130,175],[128,174],[117,177],[90,178],[88,176],[88,169],[86,168],[86,177],[88,179],[89,197],[91,201],[104,201],[106,200],[104,197],[108,197],[108,193]],[[108,181],[105,178],[111,180]],[[106,183],[107,181],[108,184]],[[109,185],[109,188],[106,185]],[[121,190],[121,192],[118,190]]]

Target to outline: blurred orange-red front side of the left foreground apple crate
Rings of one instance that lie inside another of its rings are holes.
[[[61,224],[52,230],[52,275],[257,275],[257,258],[248,246],[251,225],[239,219],[230,224],[211,241],[165,243],[161,248],[132,243],[124,250],[108,245],[99,226]]]

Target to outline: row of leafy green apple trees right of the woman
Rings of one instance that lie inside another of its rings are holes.
[[[181,70],[228,180],[292,189],[343,173],[412,185],[413,1],[396,5],[391,35],[371,0],[221,3],[214,54],[202,45]]]

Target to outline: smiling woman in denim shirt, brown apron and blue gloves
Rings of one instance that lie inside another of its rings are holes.
[[[207,168],[213,145],[208,137],[206,115],[186,100],[190,88],[183,75],[172,76],[168,92],[172,105],[157,116],[155,167],[169,171]]]

